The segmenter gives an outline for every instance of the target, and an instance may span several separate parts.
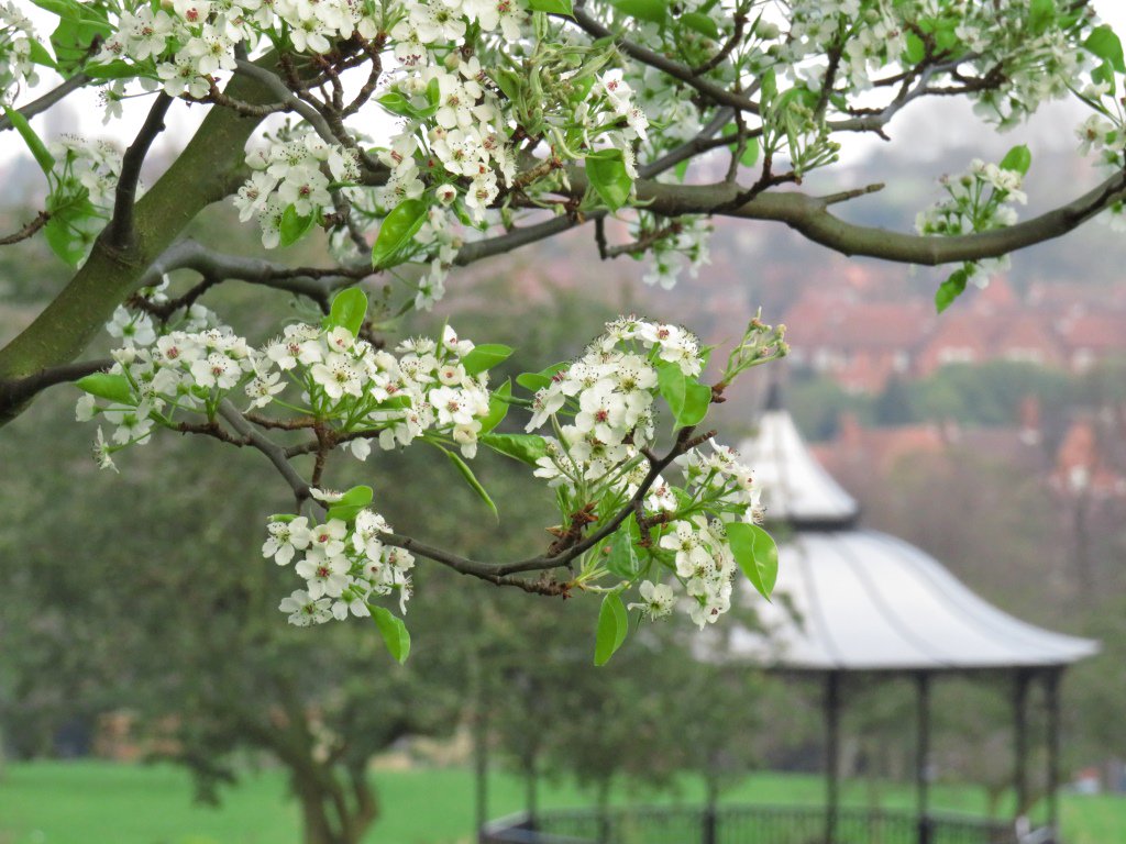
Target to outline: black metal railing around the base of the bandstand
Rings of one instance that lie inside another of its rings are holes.
[[[482,830],[482,844],[826,844],[825,812],[803,806],[562,809],[513,815]],[[832,844],[1019,844],[1011,823],[842,808]]]

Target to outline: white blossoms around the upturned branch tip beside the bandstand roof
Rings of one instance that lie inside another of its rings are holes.
[[[703,365],[698,341],[683,329],[636,317],[609,323],[586,354],[536,392],[528,430],[551,417],[560,438],[545,440],[546,456],[535,475],[561,488],[566,501],[629,500],[650,472],[645,452],[655,439],[661,367],[697,383]],[[560,415],[573,421],[561,424]],[[681,484],[656,475],[643,496],[641,519],[650,526],[651,540],[660,539],[647,544],[647,567],[632,573],[641,601],[629,607],[649,618],[672,611],[677,592],[668,580],[682,587],[687,612],[698,626],[726,612],[738,566],[724,524],[762,518],[750,469],[733,450],[709,443],[711,451],[697,447],[677,459]],[[591,565],[601,571],[599,555]],[[655,578],[641,575],[654,567]]]

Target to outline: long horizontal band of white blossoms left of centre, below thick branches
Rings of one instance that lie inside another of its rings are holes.
[[[474,348],[446,326],[440,341],[406,340],[397,354],[357,339],[347,327],[296,323],[254,348],[213,315],[194,306],[187,322],[160,333],[151,317],[119,307],[107,325],[124,345],[113,352],[113,387],[95,384],[78,404],[80,421],[96,415],[114,425],[107,441],[98,429],[96,454],[104,467],[125,446],[146,442],[154,425],[175,428],[182,412],[213,419],[220,403],[241,387],[245,412],[276,404],[324,420],[342,448],[366,459],[372,440],[383,449],[419,437],[448,441],[473,457],[489,414],[489,375],[467,372]],[[287,397],[291,388],[300,395]],[[104,402],[99,404],[98,399]]]

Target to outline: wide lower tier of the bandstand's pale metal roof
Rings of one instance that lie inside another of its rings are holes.
[[[910,671],[1065,665],[1099,649],[1002,612],[877,531],[798,532],[779,547],[775,595],[748,598],[769,634],[733,631],[734,655],[774,667]]]

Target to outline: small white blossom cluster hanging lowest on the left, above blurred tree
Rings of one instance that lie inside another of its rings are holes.
[[[269,538],[262,556],[285,566],[298,557],[294,571],[305,587],[282,599],[278,609],[297,627],[320,625],[349,616],[370,616],[369,603],[377,596],[399,593],[400,612],[411,596],[410,571],[414,557],[385,545],[382,537],[391,527],[382,515],[363,509],[354,520],[331,518],[331,505],[340,496],[313,491],[330,506],[322,524],[311,524],[303,515],[275,515],[268,523]]]

